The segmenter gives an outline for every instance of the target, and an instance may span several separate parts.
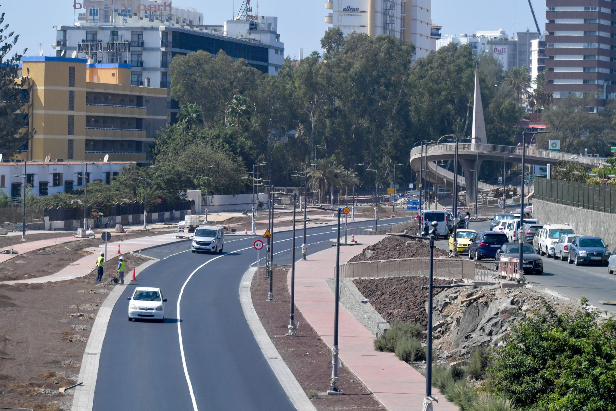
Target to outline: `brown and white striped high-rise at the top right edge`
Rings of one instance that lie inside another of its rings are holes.
[[[616,6],[607,0],[546,0],[545,89],[590,99],[596,113],[616,94]]]

